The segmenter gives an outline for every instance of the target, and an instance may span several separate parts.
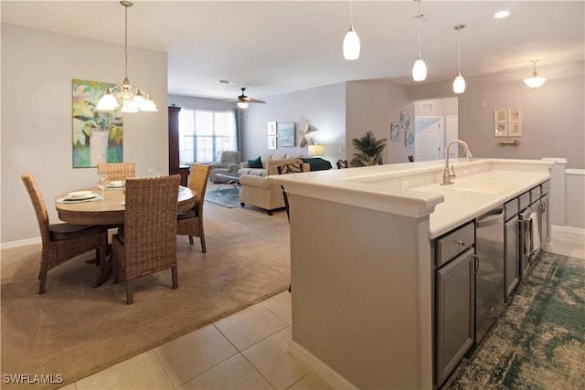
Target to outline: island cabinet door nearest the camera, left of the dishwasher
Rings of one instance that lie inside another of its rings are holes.
[[[473,345],[473,248],[437,270],[436,282],[435,362],[437,385],[441,385]]]

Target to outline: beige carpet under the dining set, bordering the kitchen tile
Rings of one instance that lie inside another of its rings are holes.
[[[37,295],[40,245],[2,250],[2,375],[62,375],[58,388],[150,350],[252,303],[286,290],[290,281],[284,212],[207,203],[207,254],[196,238],[178,237],[179,289],[170,270],[138,279],[134,303],[123,283],[90,287],[98,268],[77,258],[48,273]],[[7,263],[7,264],[6,264]]]

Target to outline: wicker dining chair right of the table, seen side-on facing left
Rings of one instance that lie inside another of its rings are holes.
[[[193,237],[199,237],[203,253],[207,253],[205,230],[203,229],[203,204],[210,172],[209,165],[193,164],[189,175],[189,188],[195,193],[196,204],[185,213],[176,215],[176,234],[188,236],[190,245],[193,245]]]

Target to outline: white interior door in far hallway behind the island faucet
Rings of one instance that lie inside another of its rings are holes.
[[[414,160],[437,160],[443,157],[442,117],[415,118]]]

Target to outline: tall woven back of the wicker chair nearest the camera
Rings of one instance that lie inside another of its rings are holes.
[[[127,279],[176,265],[176,209],[181,176],[126,180],[124,258]]]

